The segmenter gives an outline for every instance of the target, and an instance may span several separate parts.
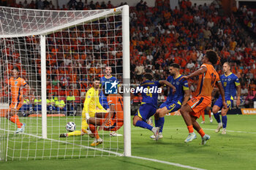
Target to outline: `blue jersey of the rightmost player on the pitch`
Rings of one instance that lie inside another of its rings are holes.
[[[222,74],[220,80],[225,91],[225,98],[233,100],[234,96],[236,96],[236,86],[240,85],[238,77],[233,73],[230,73],[228,76]]]

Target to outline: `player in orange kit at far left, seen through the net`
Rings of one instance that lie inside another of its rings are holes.
[[[10,80],[7,80],[7,86],[0,91],[7,90],[9,86],[11,88],[12,103],[5,117],[17,125],[18,129],[15,131],[15,134],[18,134],[25,130],[25,123],[20,123],[17,115],[18,110],[23,105],[23,88],[27,88],[26,91],[29,91],[30,88],[26,81],[19,77],[17,68],[12,69],[12,77],[10,77]]]

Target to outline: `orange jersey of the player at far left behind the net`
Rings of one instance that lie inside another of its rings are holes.
[[[22,88],[27,85],[26,81],[21,77],[18,77],[17,79],[11,77],[7,84],[11,86],[12,100],[18,97],[22,97]]]

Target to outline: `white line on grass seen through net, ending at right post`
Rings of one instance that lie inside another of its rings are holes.
[[[2,129],[2,128],[0,128],[0,131],[8,131],[8,132],[11,132],[11,133],[15,132],[15,131],[10,131],[10,130],[6,130],[6,129]],[[42,136],[37,136],[37,135],[34,135],[34,134],[26,134],[26,133],[22,133],[22,134],[42,139]],[[71,143],[71,142],[59,141],[59,140],[56,140],[56,139],[49,139],[49,138],[45,139],[45,140],[49,140],[49,141],[53,141],[53,142],[60,142],[60,143],[64,143],[64,144],[72,144],[72,145],[75,145],[75,146],[78,146],[78,147],[83,147],[83,148],[86,148],[86,149],[98,150],[98,151],[101,151],[101,152],[108,152],[108,153],[111,153],[113,155],[123,156],[123,154],[121,154],[121,153],[113,152],[113,151],[109,151],[109,150],[102,150],[102,149],[99,149],[99,148],[96,148],[96,147],[86,147],[86,146],[81,145],[81,144],[74,144],[74,143]]]

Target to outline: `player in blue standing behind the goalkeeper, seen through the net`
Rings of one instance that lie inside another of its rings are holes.
[[[118,80],[116,79],[116,77],[113,77],[111,75],[112,69],[110,66],[106,66],[105,68],[105,76],[100,78],[100,82],[102,84],[102,88],[105,86],[105,82],[118,82]],[[99,103],[102,105],[102,107],[104,107],[104,109],[109,109],[108,106],[108,101],[107,101],[107,97],[104,95],[104,93],[101,92],[99,93]]]

